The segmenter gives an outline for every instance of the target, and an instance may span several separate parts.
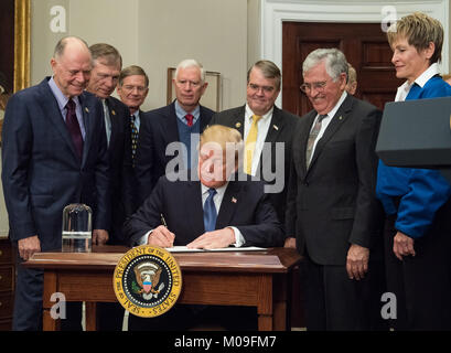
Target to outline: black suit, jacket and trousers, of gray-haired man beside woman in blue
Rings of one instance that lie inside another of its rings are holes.
[[[355,281],[347,278],[345,265],[351,244],[371,248],[372,259],[382,246],[382,210],[375,199],[380,111],[348,95],[307,169],[307,142],[316,115],[313,110],[301,118],[293,139],[286,225],[287,235],[296,235],[297,248],[308,258],[307,324],[320,330],[368,329],[362,288],[379,267],[369,265],[366,278]],[[380,300],[382,293],[375,295]],[[320,298],[327,309],[318,303]]]

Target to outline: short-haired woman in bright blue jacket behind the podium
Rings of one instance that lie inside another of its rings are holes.
[[[409,14],[387,32],[396,77],[406,78],[396,101],[451,96],[439,75],[443,29]],[[388,291],[397,330],[451,329],[451,186],[437,170],[387,167],[379,161],[377,196],[385,226]]]

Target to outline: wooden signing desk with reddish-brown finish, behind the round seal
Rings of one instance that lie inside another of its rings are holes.
[[[51,296],[86,302],[86,330],[96,330],[96,303],[117,301],[112,272],[127,248],[93,253],[37,253],[23,266],[44,269],[43,329],[58,330],[50,315]],[[257,307],[260,331],[290,330],[291,270],[300,256],[293,249],[173,254],[182,269],[180,303]]]

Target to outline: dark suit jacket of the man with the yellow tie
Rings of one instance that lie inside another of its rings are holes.
[[[217,113],[213,116],[210,125],[224,125],[230,128],[237,129],[244,138],[244,126],[245,126],[245,110],[246,106],[232,108]],[[261,153],[260,157],[260,167],[259,172],[261,180],[266,181],[269,184],[280,183],[282,189],[280,192],[270,193],[269,199],[272,202],[277,215],[279,216],[280,222],[284,223],[284,213],[287,204],[287,188],[288,178],[290,174],[290,160],[291,160],[291,145],[294,127],[299,121],[299,117],[281,110],[278,107],[273,107],[272,118],[269,126],[268,135],[266,136],[265,142],[269,142],[271,146],[270,156],[265,156]],[[276,158],[277,152],[277,142],[284,142],[283,148],[283,159]],[[276,171],[276,175],[270,172],[269,174],[264,170]],[[267,167],[271,168],[268,169]],[[276,179],[276,180],[275,180]]]

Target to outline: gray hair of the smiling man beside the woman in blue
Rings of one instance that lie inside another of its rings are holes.
[[[336,82],[342,73],[346,74],[346,81],[348,77],[348,68],[346,56],[339,51],[337,49],[316,49],[307,55],[302,64],[302,74],[305,74],[308,71],[320,64],[321,62],[325,63],[325,71],[332,81]]]

